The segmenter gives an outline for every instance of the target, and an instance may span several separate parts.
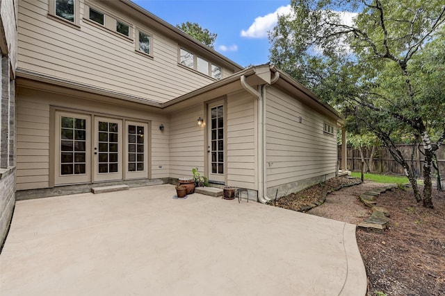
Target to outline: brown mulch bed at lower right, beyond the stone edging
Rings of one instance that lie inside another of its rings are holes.
[[[383,193],[377,203],[389,210],[389,229],[357,229],[368,295],[445,295],[445,192],[433,191],[435,209],[416,203],[412,189]]]

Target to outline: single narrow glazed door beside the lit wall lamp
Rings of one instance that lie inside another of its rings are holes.
[[[209,182],[225,182],[225,130],[224,103],[209,105]]]

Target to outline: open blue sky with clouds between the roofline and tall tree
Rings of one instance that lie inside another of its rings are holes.
[[[289,12],[289,0],[133,0],[175,26],[198,23],[218,34],[214,48],[241,66],[269,61],[267,31],[277,13]]]

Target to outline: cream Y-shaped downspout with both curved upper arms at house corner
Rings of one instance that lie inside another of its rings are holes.
[[[276,71],[275,76],[270,80],[270,85],[277,82],[280,78],[280,72]],[[245,80],[245,75],[240,77],[241,86],[249,94],[252,94],[254,98],[258,101],[258,141],[257,141],[257,164],[258,164],[258,200],[259,202],[265,204],[270,201],[267,197],[267,183],[266,183],[266,87],[268,83],[264,83],[259,86],[259,92],[253,87],[248,85]]]

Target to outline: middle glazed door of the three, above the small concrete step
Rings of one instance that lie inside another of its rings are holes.
[[[122,120],[95,117],[94,180],[122,180]]]

